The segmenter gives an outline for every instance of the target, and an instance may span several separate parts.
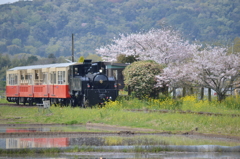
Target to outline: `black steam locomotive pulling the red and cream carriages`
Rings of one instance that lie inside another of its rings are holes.
[[[114,77],[106,76],[104,62],[92,63],[84,60],[83,64],[70,66],[69,94],[71,106],[103,105],[118,96],[117,83]]]

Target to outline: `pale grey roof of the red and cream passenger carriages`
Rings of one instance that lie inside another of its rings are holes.
[[[42,69],[42,68],[54,68],[54,67],[68,67],[70,65],[75,64],[75,62],[71,63],[57,63],[57,64],[47,64],[47,65],[31,65],[31,66],[19,66],[9,69],[8,71],[15,70],[28,70],[28,69]]]

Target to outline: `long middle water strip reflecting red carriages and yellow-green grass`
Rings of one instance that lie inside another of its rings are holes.
[[[46,137],[46,138],[0,138],[1,149],[25,148],[72,148],[74,146],[154,146],[154,145],[219,145],[238,146],[238,142],[219,141],[185,137],[180,135],[141,135],[141,136],[105,136],[105,137]],[[126,148],[127,149],[127,148]]]

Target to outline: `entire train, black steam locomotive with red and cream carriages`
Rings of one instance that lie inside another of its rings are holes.
[[[14,67],[6,72],[6,98],[17,105],[43,101],[61,106],[92,107],[116,100],[124,87],[127,64],[111,62],[57,63]]]

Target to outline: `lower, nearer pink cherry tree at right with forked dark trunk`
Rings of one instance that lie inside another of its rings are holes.
[[[240,75],[239,54],[227,54],[226,48],[207,47],[193,54],[192,60],[182,65],[171,65],[158,76],[158,83],[172,87],[193,85],[211,88],[222,101]]]

